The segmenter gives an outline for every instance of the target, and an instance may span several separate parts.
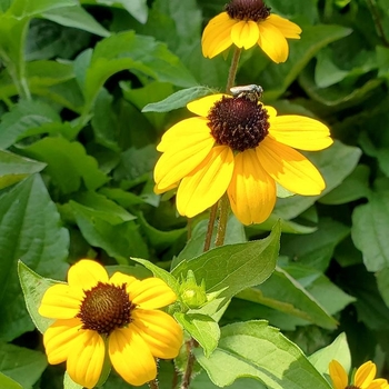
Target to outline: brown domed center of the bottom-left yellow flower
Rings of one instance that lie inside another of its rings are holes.
[[[127,293],[126,283],[117,287],[98,282],[91,290],[84,291],[77,317],[82,321],[82,329],[108,336],[116,328],[126,327],[131,322],[131,310],[134,308]]]

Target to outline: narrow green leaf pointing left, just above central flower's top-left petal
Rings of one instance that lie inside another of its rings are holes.
[[[167,99],[147,104],[142,112],[169,112],[173,109],[186,107],[188,102],[212,93],[213,90],[208,87],[192,87],[179,90],[170,94]]]

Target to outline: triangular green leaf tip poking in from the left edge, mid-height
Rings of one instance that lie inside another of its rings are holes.
[[[0,150],[0,189],[43,170],[44,163]]]

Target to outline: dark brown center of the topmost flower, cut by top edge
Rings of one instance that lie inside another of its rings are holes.
[[[270,8],[262,0],[231,0],[226,4],[226,11],[231,19],[255,22],[265,20],[270,14]]]

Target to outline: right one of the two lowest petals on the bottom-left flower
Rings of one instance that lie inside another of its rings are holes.
[[[114,370],[128,383],[141,386],[156,378],[156,360],[133,323],[110,335],[108,352]]]

